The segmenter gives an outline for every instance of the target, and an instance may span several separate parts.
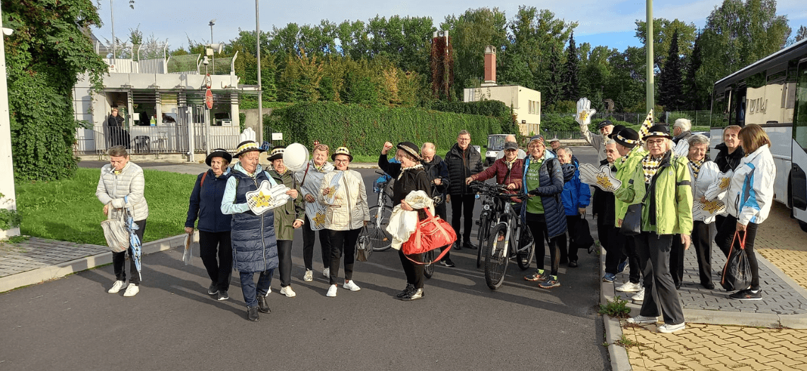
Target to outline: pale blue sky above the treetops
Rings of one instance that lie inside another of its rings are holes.
[[[239,29],[255,29],[255,2],[253,0],[135,0],[135,9],[129,8],[128,0],[98,0],[102,27],[94,28],[98,39],[112,39],[111,9],[114,10],[115,37],[128,39],[129,30],[140,27],[144,38],[154,35],[165,40],[170,49],[186,47],[188,39],[198,43],[208,43],[211,27],[208,23],[215,19],[213,39],[216,43],[235,39]],[[97,2],[97,4],[98,4]],[[706,17],[721,4],[722,0],[656,0],[654,18],[679,19],[704,27]],[[521,5],[548,9],[558,19],[575,21],[575,41],[591,43],[592,47],[606,45],[624,50],[629,46],[640,46],[636,38],[636,19],[646,19],[645,2],[627,0],[605,2],[602,0],[576,0],[558,2],[537,0],[537,2],[483,2],[479,0],[443,1],[266,1],[260,2],[261,31],[271,31],[272,27],[283,27],[288,23],[319,24],[322,19],[333,23],[344,20],[362,20],[375,15],[389,18],[391,15],[431,17],[435,27],[439,27],[446,15],[462,14],[467,9],[498,7],[504,10],[508,20]],[[801,25],[807,26],[807,2],[804,0],[779,0],[777,14],[788,16],[792,35]]]

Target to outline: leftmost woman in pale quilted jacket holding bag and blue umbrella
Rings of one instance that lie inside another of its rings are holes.
[[[132,219],[137,225],[135,231],[137,238],[143,241],[143,233],[146,229],[146,218],[148,218],[148,203],[143,196],[145,180],[143,169],[134,163],[129,162],[129,154],[123,146],[113,146],[107,152],[109,164],[101,168],[101,179],[98,179],[98,188],[95,188],[95,196],[104,204],[103,213],[109,215],[110,212],[128,212],[132,214]],[[126,292],[123,296],[134,296],[140,292],[140,272],[137,271],[135,260],[132,258],[132,246],[129,246],[129,283],[126,283],[126,270],[123,269],[123,262],[126,261],[126,251],[112,254],[112,266],[115,270],[115,283],[109,289],[110,294],[116,294],[123,288]]]

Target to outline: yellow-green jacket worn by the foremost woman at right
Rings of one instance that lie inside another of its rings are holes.
[[[646,189],[640,159],[633,177],[614,196],[626,204],[636,204],[650,192],[642,206],[642,232],[692,234],[692,181],[687,159],[667,151],[654,177],[653,187]]]

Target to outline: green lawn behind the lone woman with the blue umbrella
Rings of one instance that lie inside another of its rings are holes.
[[[79,168],[73,179],[17,182],[21,232],[52,240],[107,245],[103,205],[95,197],[100,169]],[[196,175],[144,170],[148,222],[144,242],[184,233],[188,198]]]

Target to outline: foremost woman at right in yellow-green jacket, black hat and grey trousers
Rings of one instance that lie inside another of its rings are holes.
[[[689,247],[692,233],[692,188],[687,159],[672,151],[672,136],[667,126],[651,126],[644,136],[648,154],[633,171],[632,182],[622,183],[614,192],[628,204],[642,204],[641,233],[636,248],[639,257],[649,257],[645,275],[653,277],[639,315],[630,324],[654,324],[659,317],[659,304],[664,324],[659,332],[676,332],[685,328],[684,310],[670,274],[670,249],[674,238],[684,249]]]

